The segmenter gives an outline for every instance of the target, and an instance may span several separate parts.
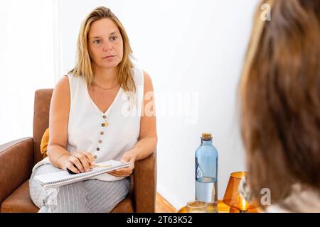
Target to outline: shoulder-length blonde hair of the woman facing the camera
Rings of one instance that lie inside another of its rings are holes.
[[[92,85],[94,81],[94,70],[92,68],[91,59],[88,52],[87,36],[92,23],[95,21],[99,21],[102,18],[109,18],[110,20],[112,20],[119,28],[119,31],[122,35],[124,51],[122,61],[119,63],[119,65],[117,65],[117,81],[125,92],[136,92],[136,87],[131,72],[133,64],[130,60],[132,48],[129,44],[129,38],[126,31],[124,30],[124,26],[122,26],[122,23],[116,16],[114,16],[112,11],[105,6],[100,6],[94,9],[82,22],[78,35],[76,64],[73,70],[70,70],[70,72],[68,73],[74,74],[78,77],[84,77],[87,85]]]

